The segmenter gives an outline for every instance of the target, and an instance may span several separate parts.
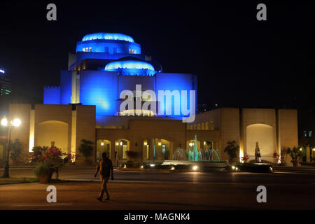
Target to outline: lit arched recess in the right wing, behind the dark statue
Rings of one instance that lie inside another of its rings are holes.
[[[251,157],[250,160],[255,157],[256,142],[258,142],[262,157],[272,157],[274,153],[273,127],[264,124],[254,124],[246,127],[246,154]]]

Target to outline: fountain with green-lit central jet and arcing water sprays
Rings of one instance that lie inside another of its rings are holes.
[[[192,145],[190,145],[192,146]],[[218,149],[202,149],[198,151],[197,135],[195,135],[193,148],[187,151],[183,148],[176,148],[172,160],[165,160],[162,165],[197,165],[202,168],[225,169],[228,164],[220,160]]]

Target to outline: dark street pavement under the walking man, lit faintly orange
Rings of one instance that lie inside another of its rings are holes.
[[[0,170],[1,172],[1,170]],[[33,177],[30,168],[12,168],[13,177]],[[64,183],[0,186],[0,209],[315,209],[314,172],[274,174],[227,172],[115,171],[111,200],[99,202],[94,167],[64,167]],[[57,203],[48,203],[46,188],[57,188]],[[267,188],[267,203],[258,203],[258,186]]]

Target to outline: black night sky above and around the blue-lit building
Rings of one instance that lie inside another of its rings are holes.
[[[0,67],[15,102],[41,103],[77,41],[119,32],[163,71],[195,73],[199,104],[314,106],[315,4],[240,2],[1,1]],[[56,22],[46,20],[48,3],[57,5]],[[267,21],[256,20],[258,3]]]

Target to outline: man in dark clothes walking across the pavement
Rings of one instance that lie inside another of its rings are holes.
[[[113,164],[109,158],[106,157],[106,153],[102,153],[102,159],[99,160],[97,163],[97,170],[94,175],[94,177],[97,176],[97,173],[99,172],[99,177],[101,179],[102,183],[102,189],[99,193],[99,197],[97,197],[97,200],[102,202],[103,195],[106,193],[106,199],[109,200],[109,190],[107,190],[107,182],[109,181],[109,177],[111,176],[111,179],[113,180]]]

